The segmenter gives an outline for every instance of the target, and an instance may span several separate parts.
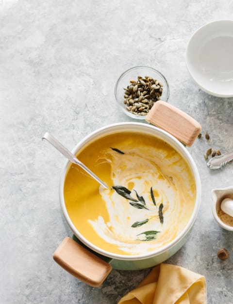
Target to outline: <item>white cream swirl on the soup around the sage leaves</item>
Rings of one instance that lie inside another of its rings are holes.
[[[118,147],[117,147],[118,148]],[[146,201],[146,209],[136,209],[128,199],[119,196],[112,189],[99,188],[105,201],[109,221],[99,216],[89,223],[96,233],[106,242],[115,244],[127,254],[139,255],[160,248],[171,242],[185,227],[194,208],[194,181],[183,158],[174,150],[167,152],[154,147],[129,149],[119,147],[125,152],[110,153],[103,151],[99,163],[111,164],[113,185],[123,185],[135,189]],[[150,187],[155,194],[156,206],[150,197]],[[157,194],[157,195],[156,195]],[[135,192],[131,196],[136,198]],[[163,202],[164,224],[160,223],[158,210]],[[148,223],[132,228],[136,221],[149,219]],[[160,231],[153,241],[138,241],[138,234]]]

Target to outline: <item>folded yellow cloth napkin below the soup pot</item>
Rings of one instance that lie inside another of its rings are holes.
[[[205,277],[180,266],[160,264],[118,304],[206,304]]]

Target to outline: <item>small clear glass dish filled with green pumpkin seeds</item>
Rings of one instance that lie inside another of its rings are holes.
[[[169,87],[165,76],[159,71],[149,66],[135,66],[117,80],[115,97],[125,114],[145,120],[156,101],[167,101]]]

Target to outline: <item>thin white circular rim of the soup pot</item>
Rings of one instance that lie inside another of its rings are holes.
[[[67,209],[66,209],[66,204],[65,204],[65,199],[64,199],[64,182],[65,182],[65,178],[66,178],[66,174],[67,174],[67,168],[70,165],[70,162],[67,160],[65,162],[65,166],[62,169],[62,174],[61,174],[61,178],[60,178],[60,185],[59,185],[59,198],[60,198],[60,205],[62,208],[62,212],[65,216],[65,219],[67,221],[67,224],[69,225],[69,227],[71,228],[71,230],[73,231],[73,233],[75,234],[75,236],[82,242],[84,243],[87,247],[89,247],[91,250],[94,250],[95,252],[109,257],[109,258],[116,258],[116,259],[121,259],[121,260],[140,260],[140,259],[146,259],[146,258],[151,258],[154,256],[157,256],[159,254],[162,254],[164,252],[166,252],[168,249],[170,249],[171,247],[173,247],[176,243],[178,243],[187,233],[188,231],[191,229],[191,227],[193,226],[197,215],[198,215],[198,211],[200,208],[200,196],[201,196],[201,183],[200,183],[200,176],[199,176],[199,172],[197,169],[197,166],[193,160],[193,158],[191,157],[190,153],[186,150],[186,148],[183,146],[183,144],[176,139],[175,137],[173,137],[172,135],[170,135],[168,132],[155,127],[153,125],[150,124],[145,124],[142,122],[117,122],[117,123],[113,123],[113,124],[109,124],[106,125],[104,127],[101,127],[95,131],[93,131],[92,133],[88,134],[87,136],[85,136],[73,149],[72,149],[72,153],[76,154],[78,152],[78,150],[83,147],[83,144],[85,144],[85,142],[95,136],[98,135],[99,133],[101,133],[104,130],[108,130],[114,127],[118,127],[118,126],[142,126],[144,128],[149,128],[152,130],[157,131],[158,133],[161,133],[162,136],[165,136],[167,138],[169,138],[169,141],[172,141],[173,144],[173,148],[176,150],[175,146],[177,146],[178,148],[180,148],[180,150],[183,152],[183,154],[185,155],[185,160],[187,161],[188,165],[190,166],[192,173],[194,175],[194,179],[195,179],[195,183],[196,183],[196,201],[195,201],[195,205],[194,205],[194,210],[193,213],[187,223],[187,225],[185,226],[185,228],[183,229],[183,231],[170,243],[166,244],[165,246],[163,246],[162,248],[159,249],[155,249],[153,251],[151,251],[150,253],[146,253],[146,254],[140,254],[140,255],[121,255],[121,254],[115,254],[109,251],[106,251],[104,249],[101,249],[100,247],[94,245],[93,243],[91,243],[90,241],[88,241],[86,238],[83,237],[83,235],[78,231],[78,229],[74,226],[74,224],[72,223],[71,219],[69,218],[69,215],[67,213]],[[143,132],[143,130],[142,130]],[[162,138],[162,140],[166,141],[166,139]],[[169,144],[172,146],[172,144],[169,142]],[[181,154],[181,156],[183,157],[182,153],[180,151],[178,151],[178,153]]]

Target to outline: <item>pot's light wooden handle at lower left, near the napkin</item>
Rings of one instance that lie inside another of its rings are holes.
[[[66,237],[53,254],[54,260],[68,273],[92,287],[99,287],[112,266]]]

